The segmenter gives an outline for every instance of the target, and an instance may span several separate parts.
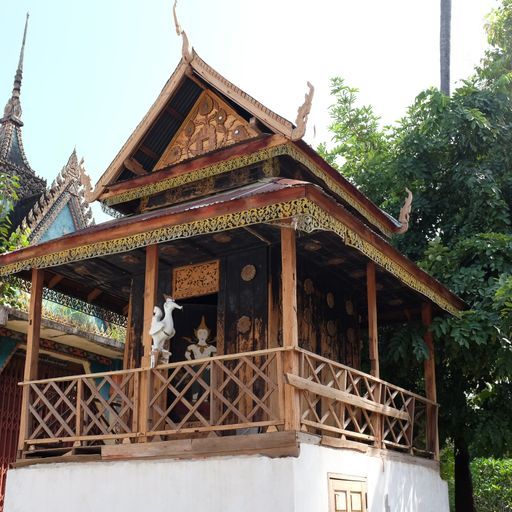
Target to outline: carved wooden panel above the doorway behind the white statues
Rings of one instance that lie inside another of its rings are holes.
[[[217,293],[219,260],[177,267],[172,276],[172,296],[175,300]]]

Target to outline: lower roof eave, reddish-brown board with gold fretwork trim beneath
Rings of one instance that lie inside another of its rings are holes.
[[[287,179],[266,180],[212,198],[114,220],[2,255],[0,275],[32,267],[46,268],[90,259],[100,255],[100,252],[102,255],[114,254],[127,251],[128,247],[144,247],[158,241],[205,233],[204,230],[194,231],[195,227],[206,227],[209,230],[207,232],[213,233],[301,215],[314,223],[314,229],[337,233],[347,245],[365,254],[442,309],[452,314],[466,309],[464,302],[456,295],[399,253],[319,187]],[[174,229],[177,231],[173,232]]]

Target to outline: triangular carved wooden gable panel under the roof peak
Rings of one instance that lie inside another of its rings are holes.
[[[229,105],[212,92],[204,91],[154,170],[257,135],[257,130]]]

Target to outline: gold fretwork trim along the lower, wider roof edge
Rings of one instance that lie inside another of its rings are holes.
[[[298,229],[305,232],[315,230],[336,233],[346,245],[354,247],[404,284],[428,297],[442,309],[453,315],[459,310],[435,289],[418,279],[411,271],[386,255],[382,250],[365,240],[355,230],[323,210],[307,198],[294,199],[272,205],[251,208],[245,211],[227,213],[208,219],[191,221],[174,226],[165,226],[143,233],[95,242],[81,247],[66,249],[51,254],[36,256],[0,267],[0,275],[8,275],[29,268],[46,268],[74,261],[81,261],[109,254],[128,252],[177,239],[218,233],[239,227],[261,223],[272,223],[284,219],[295,219]]]

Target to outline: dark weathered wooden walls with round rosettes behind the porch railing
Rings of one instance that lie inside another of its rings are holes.
[[[342,271],[339,270],[337,272]],[[236,252],[220,261],[217,296],[218,354],[234,354],[282,345],[281,249],[278,244]],[[172,269],[159,272],[157,304],[171,293]],[[299,344],[316,354],[361,367],[358,304],[336,272],[298,255]],[[132,282],[131,336],[134,363],[142,357],[144,276]],[[201,301],[198,299],[198,304]],[[186,315],[186,307],[182,315]],[[171,348],[172,352],[172,348]]]

